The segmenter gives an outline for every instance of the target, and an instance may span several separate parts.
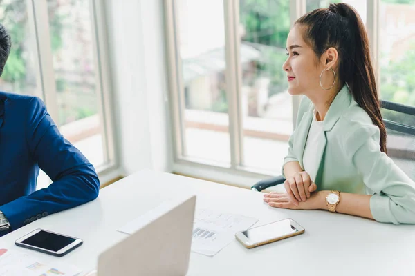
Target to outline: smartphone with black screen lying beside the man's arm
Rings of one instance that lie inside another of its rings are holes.
[[[37,250],[62,257],[82,244],[82,239],[70,237],[48,230],[36,229],[15,241],[17,246]]]

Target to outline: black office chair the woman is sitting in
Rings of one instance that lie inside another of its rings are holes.
[[[390,101],[380,101],[382,117],[387,130],[387,152],[412,180],[415,181],[415,107]],[[264,179],[251,187],[260,192],[283,184],[282,175]]]

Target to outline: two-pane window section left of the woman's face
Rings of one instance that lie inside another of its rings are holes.
[[[166,9],[176,161],[278,173],[299,103],[282,70],[295,5],[171,0]]]

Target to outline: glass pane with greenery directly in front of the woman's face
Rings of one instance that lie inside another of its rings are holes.
[[[240,0],[244,166],[279,172],[293,132],[286,38],[290,3]]]

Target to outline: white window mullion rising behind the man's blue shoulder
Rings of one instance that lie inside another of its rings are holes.
[[[48,3],[46,0],[32,0],[30,10],[33,10],[35,19],[35,32],[37,41],[37,50],[39,56],[39,68],[44,92],[44,101],[48,108],[50,116],[59,124],[57,112],[57,97],[55,85],[55,70],[53,70],[52,47],[50,46],[50,32],[48,19]]]

